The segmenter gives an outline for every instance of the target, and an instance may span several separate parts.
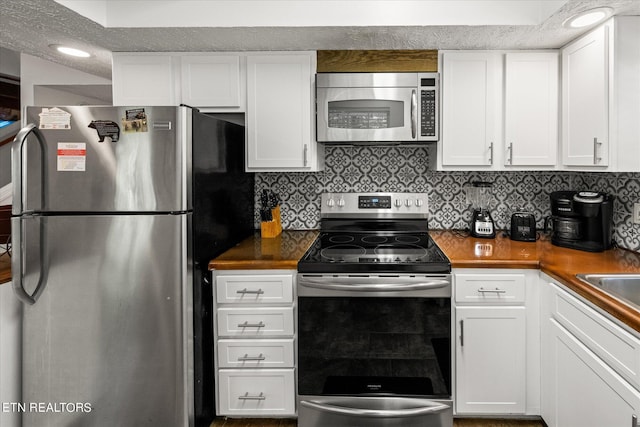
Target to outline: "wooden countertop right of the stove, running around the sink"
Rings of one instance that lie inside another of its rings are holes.
[[[546,236],[515,242],[500,233],[477,239],[456,231],[430,231],[453,268],[539,268],[569,289],[640,332],[640,312],[575,276],[581,273],[640,273],[640,253],[625,249],[585,252],[554,246]]]

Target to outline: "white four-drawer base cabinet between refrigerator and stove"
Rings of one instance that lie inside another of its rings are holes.
[[[213,272],[218,415],[295,416],[295,275]]]

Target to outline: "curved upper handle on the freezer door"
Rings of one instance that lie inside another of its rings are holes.
[[[24,195],[22,194],[22,166],[23,166],[23,156],[22,150],[24,149],[24,144],[27,141],[27,137],[30,133],[33,133],[38,140],[38,144],[40,145],[40,151],[42,153],[42,159],[40,162],[41,174],[40,174],[40,208],[41,210],[46,209],[46,199],[45,199],[45,179],[47,176],[47,144],[44,138],[44,135],[38,127],[29,123],[27,126],[22,128],[20,132],[16,135],[13,140],[13,144],[11,145],[12,151],[12,165],[11,165],[11,181],[13,182],[13,208],[12,213],[14,215],[20,215],[24,210]]]

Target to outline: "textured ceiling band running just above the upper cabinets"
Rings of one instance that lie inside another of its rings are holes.
[[[110,79],[111,52],[558,48],[583,32],[562,22],[597,6],[640,15],[640,0],[569,0],[540,25],[104,28],[53,0],[0,0],[0,47]],[[94,56],[62,57],[50,44],[73,44]]]

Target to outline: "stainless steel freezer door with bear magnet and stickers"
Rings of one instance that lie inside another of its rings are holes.
[[[14,142],[21,212],[191,209],[190,109],[29,107],[27,122],[45,143]]]

